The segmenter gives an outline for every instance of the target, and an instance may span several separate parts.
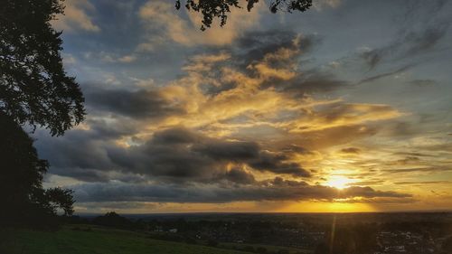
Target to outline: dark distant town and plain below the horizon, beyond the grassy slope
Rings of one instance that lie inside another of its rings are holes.
[[[252,253],[450,254],[452,213],[236,213],[73,217],[151,239]],[[81,230],[83,227],[74,227]]]

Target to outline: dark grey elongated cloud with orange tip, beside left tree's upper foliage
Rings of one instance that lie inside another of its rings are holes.
[[[85,90],[86,104],[93,111],[105,111],[128,118],[163,118],[184,113],[184,109],[164,99],[157,90]]]

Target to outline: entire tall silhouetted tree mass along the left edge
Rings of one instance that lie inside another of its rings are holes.
[[[61,136],[85,115],[83,96],[61,60],[61,33],[50,22],[61,0],[3,0],[0,7],[0,221],[48,223],[71,215],[71,190],[42,188],[48,163],[38,158],[29,124]]]

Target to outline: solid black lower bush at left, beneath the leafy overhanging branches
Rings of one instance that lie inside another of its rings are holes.
[[[47,161],[38,158],[33,139],[2,112],[0,135],[0,223],[52,226],[59,210],[71,215],[71,190],[42,188]]]

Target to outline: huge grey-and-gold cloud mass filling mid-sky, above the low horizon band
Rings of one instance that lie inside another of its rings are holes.
[[[170,183],[313,177],[303,165],[318,168],[309,160],[321,155],[309,149],[375,135],[380,122],[400,117],[388,105],[311,96],[343,85],[334,75],[297,70],[315,36],[251,35],[234,42],[241,48],[194,55],[186,73],[165,84],[84,85],[88,121],[42,148],[53,173],[100,182],[133,180],[128,174]]]

